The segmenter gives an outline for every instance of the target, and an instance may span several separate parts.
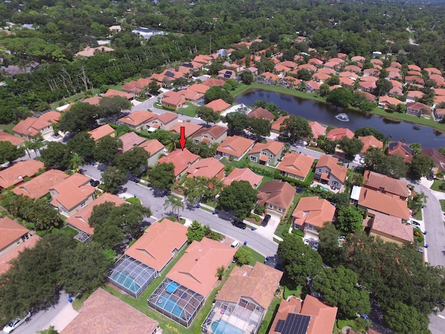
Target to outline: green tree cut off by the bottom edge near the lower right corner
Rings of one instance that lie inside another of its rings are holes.
[[[398,302],[385,312],[385,323],[397,334],[430,334],[428,317],[416,308]]]

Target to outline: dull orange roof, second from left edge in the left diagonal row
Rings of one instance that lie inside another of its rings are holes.
[[[34,177],[33,180],[19,184],[13,189],[13,193],[30,198],[41,198],[49,193],[49,189],[52,189],[69,176],[63,173],[62,170],[50,169]]]

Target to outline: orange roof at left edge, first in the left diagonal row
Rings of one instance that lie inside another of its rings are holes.
[[[13,166],[0,171],[0,189],[9,186],[17,186],[24,182],[24,177],[33,177],[40,169],[44,168],[42,161],[29,159],[17,161]]]

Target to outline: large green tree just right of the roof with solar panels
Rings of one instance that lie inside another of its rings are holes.
[[[337,306],[344,317],[354,319],[357,313],[364,315],[371,310],[369,292],[357,287],[358,276],[350,269],[343,266],[325,268],[312,282],[325,302]]]

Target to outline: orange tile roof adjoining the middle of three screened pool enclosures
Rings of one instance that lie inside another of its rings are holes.
[[[219,241],[206,237],[199,242],[195,240],[167,277],[206,297],[218,281],[216,271],[221,266],[227,268],[235,253],[235,248]]]

